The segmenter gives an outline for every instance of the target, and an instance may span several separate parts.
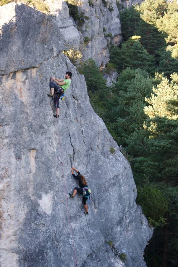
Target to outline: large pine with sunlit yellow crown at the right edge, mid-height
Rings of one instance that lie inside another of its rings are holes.
[[[146,98],[149,106],[144,108],[144,112],[148,119],[145,120],[144,130],[140,130],[142,140],[139,131],[131,134],[127,140],[127,150],[137,156],[132,161],[137,178],[150,181],[177,179],[178,111],[175,104],[178,102],[178,74],[172,74],[171,79],[169,82],[163,78],[157,89],[153,88],[154,94]],[[143,149],[135,151],[135,143],[139,142],[141,147],[144,144],[147,154]]]

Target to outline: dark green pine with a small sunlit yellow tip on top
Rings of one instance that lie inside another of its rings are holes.
[[[117,71],[130,67],[132,69],[143,69],[149,74],[154,74],[155,63],[152,55],[149,55],[139,41],[140,36],[133,36],[120,47],[113,46],[110,49],[110,62],[114,63]]]

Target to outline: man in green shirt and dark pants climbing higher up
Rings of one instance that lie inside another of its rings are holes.
[[[58,79],[54,76],[51,76],[52,82],[50,82],[51,93],[47,94],[52,97],[54,105],[56,107],[56,115],[53,115],[56,118],[59,118],[59,99],[62,94],[67,90],[70,86],[70,78],[72,77],[72,72],[67,71],[65,74],[65,79]]]

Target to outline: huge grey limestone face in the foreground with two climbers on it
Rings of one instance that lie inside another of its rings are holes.
[[[59,20],[15,3],[0,14],[1,267],[75,266],[76,259],[97,266],[81,197],[66,199],[78,186],[71,166],[92,190],[87,220],[98,266],[145,266],[152,230],[135,204],[130,164],[93,111],[84,77],[61,52]],[[66,71],[72,82],[57,120],[46,93],[51,74]]]

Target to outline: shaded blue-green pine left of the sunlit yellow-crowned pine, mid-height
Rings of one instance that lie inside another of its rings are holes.
[[[145,97],[151,95],[152,87],[153,82],[146,71],[127,68],[119,75],[112,88],[114,99],[107,102],[110,110],[108,119],[118,136],[119,144],[127,146],[130,134],[142,128],[146,119],[143,111]]]

